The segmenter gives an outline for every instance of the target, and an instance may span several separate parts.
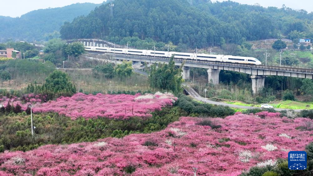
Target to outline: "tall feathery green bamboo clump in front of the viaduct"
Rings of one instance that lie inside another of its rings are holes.
[[[181,90],[182,69],[176,68],[173,59],[174,56],[171,57],[168,64],[159,64],[158,68],[156,68],[156,64],[151,66],[149,82],[152,88],[173,91],[174,93]]]

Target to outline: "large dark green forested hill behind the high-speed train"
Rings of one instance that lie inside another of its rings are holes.
[[[86,17],[64,23],[61,37],[101,38],[102,35],[119,42],[126,36],[138,36],[192,47],[295,35],[313,38],[313,13],[285,7],[263,8],[207,0],[194,0],[193,6],[187,0],[115,0],[114,4],[113,17],[110,7],[101,5]]]

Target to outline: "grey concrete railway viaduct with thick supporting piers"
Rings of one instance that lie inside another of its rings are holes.
[[[107,44],[97,44],[95,42],[83,42],[85,46],[108,46]],[[110,46],[109,46],[110,47]],[[99,53],[95,53],[99,54]],[[129,60],[135,63],[146,62],[146,63],[168,63],[169,58],[163,57],[151,57],[151,56],[139,56],[129,54],[114,54],[114,53],[100,53],[110,56],[113,60]],[[267,75],[275,76],[289,76],[297,78],[308,78],[313,79],[313,68],[310,67],[296,67],[296,66],[279,66],[279,65],[245,65],[245,64],[230,64],[223,62],[209,62],[199,60],[183,60],[174,59],[175,65],[182,65],[182,77],[183,79],[189,79],[190,67],[198,67],[208,69],[208,81],[212,80],[213,84],[219,83],[219,72],[220,70],[237,71],[250,75],[252,80],[252,90],[257,93],[262,87],[264,87],[264,80]]]

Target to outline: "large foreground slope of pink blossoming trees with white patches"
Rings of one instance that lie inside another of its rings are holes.
[[[5,152],[0,175],[192,175],[193,167],[198,175],[239,175],[313,141],[313,131],[305,131],[313,120],[259,115],[237,113],[211,122],[181,117],[151,134]]]

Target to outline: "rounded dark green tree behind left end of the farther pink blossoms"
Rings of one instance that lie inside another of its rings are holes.
[[[55,96],[72,96],[76,93],[76,88],[70,82],[69,76],[60,70],[54,70],[46,78],[42,90],[47,93],[49,99]]]

